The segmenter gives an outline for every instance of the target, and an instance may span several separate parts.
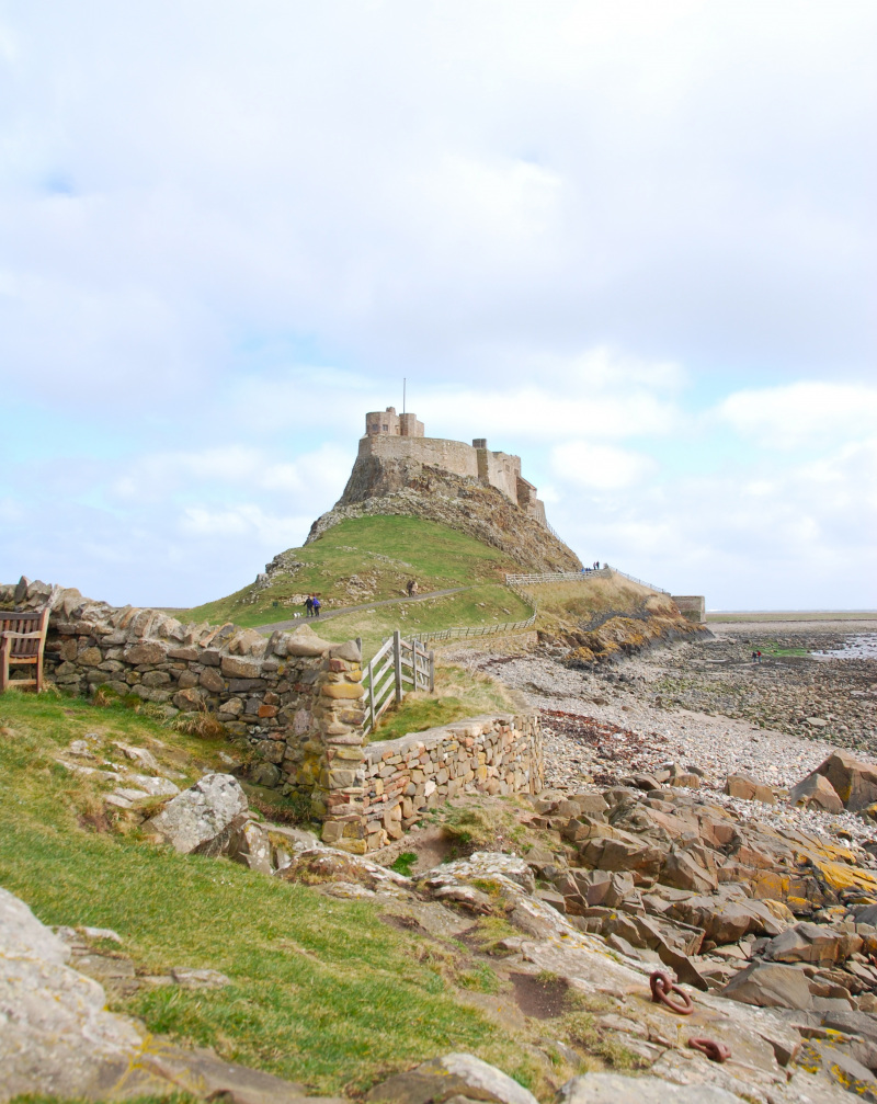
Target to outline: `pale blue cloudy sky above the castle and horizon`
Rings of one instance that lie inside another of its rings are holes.
[[[190,606],[364,413],[708,608],[877,607],[873,0],[0,0],[0,582]]]

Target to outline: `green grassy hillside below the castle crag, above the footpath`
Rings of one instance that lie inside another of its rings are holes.
[[[233,620],[252,627],[288,619],[302,609],[294,604],[294,596],[309,592],[319,593],[325,607],[331,608],[404,597],[410,578],[415,578],[424,593],[497,583],[506,571],[519,570],[498,549],[446,526],[382,514],[342,521],[313,544],[290,549],[287,555],[300,566],[278,573],[270,586],[257,590],[250,584],[176,616],[211,624]],[[351,594],[351,575],[366,584],[367,595]]]

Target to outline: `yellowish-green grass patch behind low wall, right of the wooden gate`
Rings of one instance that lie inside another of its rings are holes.
[[[391,705],[370,740],[395,740],[409,732],[423,732],[480,713],[516,713],[519,705],[501,682],[462,667],[436,664],[435,693],[409,693]]]

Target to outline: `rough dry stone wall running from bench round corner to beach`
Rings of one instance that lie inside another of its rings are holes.
[[[364,853],[398,839],[461,793],[538,793],[538,714],[476,718],[366,744],[359,647],[309,628],[264,637],[236,625],[183,625],[158,609],[114,607],[73,588],[0,586],[0,607],[49,605],[46,680],[73,694],[107,688],[167,718],[215,716],[256,760],[251,781],[309,799],[324,838]]]

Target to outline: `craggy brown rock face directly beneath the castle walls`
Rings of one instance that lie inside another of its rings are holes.
[[[341,498],[306,544],[348,518],[402,514],[436,521],[500,549],[525,571],[580,571],[575,553],[495,487],[413,459],[358,459]]]

